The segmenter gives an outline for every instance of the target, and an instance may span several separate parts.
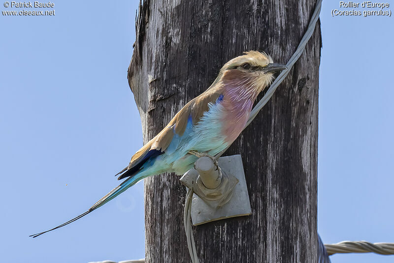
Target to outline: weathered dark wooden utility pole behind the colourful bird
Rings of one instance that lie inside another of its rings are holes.
[[[145,0],[128,71],[144,143],[243,51],[265,50],[286,64],[314,7],[313,0]],[[318,23],[290,75],[227,151],[242,155],[253,214],[194,227],[200,262],[317,262],[320,49]],[[190,261],[178,180],[145,180],[147,263]]]

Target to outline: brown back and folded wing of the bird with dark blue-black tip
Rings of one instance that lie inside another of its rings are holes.
[[[208,89],[187,103],[178,113],[176,113],[176,115],[158,135],[145,144],[140,150],[135,152],[131,157],[129,166],[118,173],[121,174],[118,180],[132,176],[146,161],[149,160],[149,158],[163,154],[165,149],[170,145],[175,134],[179,136],[183,135],[186,130],[189,117],[192,118],[194,125],[197,124],[204,112],[209,110],[209,104],[215,103],[219,97],[221,97],[221,94],[220,89]]]

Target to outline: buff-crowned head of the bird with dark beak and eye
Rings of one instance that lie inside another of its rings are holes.
[[[217,80],[223,85],[252,89],[258,94],[271,84],[274,73],[285,69],[285,65],[273,63],[272,58],[264,52],[248,51],[227,62]]]

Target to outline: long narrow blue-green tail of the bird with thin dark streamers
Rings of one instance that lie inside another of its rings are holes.
[[[30,235],[32,237],[37,237],[39,235],[42,235],[46,232],[55,230],[57,228],[60,228],[62,226],[68,225],[84,216],[86,216],[87,214],[89,214],[90,212],[98,209],[100,206],[106,204],[107,202],[111,201],[112,199],[114,199],[116,196],[118,196],[119,194],[123,193],[124,191],[126,191],[127,188],[135,185],[136,183],[138,183],[140,180],[144,179],[146,176],[138,176],[138,174],[131,176],[130,178],[128,178],[126,181],[122,182],[122,184],[120,184],[118,187],[112,189],[109,193],[107,193],[104,197],[102,197],[96,204],[94,204],[91,208],[89,208],[88,211],[86,211],[85,213],[67,221],[66,223],[62,224],[62,225],[58,225],[52,229],[46,230],[44,232],[40,232],[40,233],[36,233],[33,235]]]

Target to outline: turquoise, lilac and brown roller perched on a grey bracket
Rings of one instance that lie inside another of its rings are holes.
[[[274,79],[274,73],[287,69],[273,63],[266,53],[245,52],[227,62],[212,85],[187,103],[165,128],[132,157],[118,178],[127,178],[88,211],[48,231],[68,225],[112,200],[138,181],[164,172],[182,175],[197,160],[191,152],[215,155],[241,133],[257,95]],[[197,154],[198,155],[198,154]]]

